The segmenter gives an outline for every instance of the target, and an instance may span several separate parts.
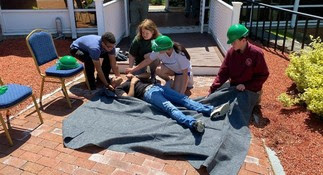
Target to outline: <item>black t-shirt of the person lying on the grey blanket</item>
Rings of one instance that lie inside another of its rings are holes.
[[[150,83],[143,83],[141,81],[138,81],[135,84],[135,97],[136,98],[140,98],[143,99],[144,97],[144,93],[145,93],[145,89],[147,86],[149,86]],[[130,89],[130,81],[126,81],[124,83],[122,83],[120,86],[117,86],[115,88],[115,93],[117,94],[117,96],[122,96],[123,93],[127,93],[129,92]]]

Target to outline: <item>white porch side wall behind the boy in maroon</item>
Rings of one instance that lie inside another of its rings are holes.
[[[239,23],[241,2],[228,5],[222,0],[210,1],[209,33],[217,42],[221,51],[226,54],[230,48],[227,44],[227,30],[232,24]]]

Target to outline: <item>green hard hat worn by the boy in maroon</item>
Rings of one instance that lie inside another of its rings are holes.
[[[249,30],[242,24],[232,25],[227,32],[228,41],[227,44],[233,43],[235,40],[247,36]]]

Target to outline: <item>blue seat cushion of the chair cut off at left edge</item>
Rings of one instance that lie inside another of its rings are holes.
[[[7,84],[7,86],[8,90],[0,95],[0,109],[14,106],[32,94],[32,90],[28,86],[19,84]]]

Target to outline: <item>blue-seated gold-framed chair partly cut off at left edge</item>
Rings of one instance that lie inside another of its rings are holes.
[[[5,84],[3,83],[3,81],[0,78],[0,86],[4,87],[4,85]],[[13,145],[9,131],[8,131],[6,124],[2,118],[1,111],[4,111],[4,110],[6,111],[8,128],[11,128],[10,123],[9,123],[10,122],[9,115],[8,115],[9,109],[22,103],[23,101],[25,101],[29,97],[32,97],[34,104],[35,104],[36,111],[39,116],[40,123],[44,123],[44,122],[43,122],[43,118],[39,112],[36,98],[33,95],[32,89],[30,87],[19,85],[19,84],[7,84],[5,87],[6,87],[6,90],[4,91],[4,93],[1,93],[1,95],[0,95],[0,122],[2,124],[5,134],[7,136],[9,144]]]

